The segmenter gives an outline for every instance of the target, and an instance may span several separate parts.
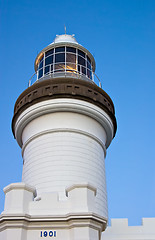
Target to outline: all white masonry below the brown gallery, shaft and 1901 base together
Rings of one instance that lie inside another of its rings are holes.
[[[107,223],[104,159],[113,134],[106,112],[82,100],[42,101],[22,112],[15,136],[23,182],[4,189],[0,238],[36,240],[47,232],[51,239],[56,231],[57,240],[100,240]]]

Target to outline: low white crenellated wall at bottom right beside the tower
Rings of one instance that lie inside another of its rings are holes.
[[[142,225],[128,226],[128,219],[111,219],[102,240],[155,240],[155,218],[142,218]]]

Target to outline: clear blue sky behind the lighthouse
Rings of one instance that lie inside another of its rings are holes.
[[[96,60],[96,74],[115,104],[118,129],[108,149],[110,218],[155,217],[155,1],[0,0],[2,189],[20,182],[21,149],[11,132],[17,97],[34,73],[34,60],[56,34],[75,34]]]

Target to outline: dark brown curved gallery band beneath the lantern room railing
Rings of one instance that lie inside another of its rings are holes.
[[[19,96],[15,103],[12,119],[14,137],[16,121],[27,108],[42,101],[59,98],[84,100],[103,109],[113,123],[113,137],[115,136],[117,129],[115,110],[108,94],[89,81],[74,78],[57,78],[35,83]]]

